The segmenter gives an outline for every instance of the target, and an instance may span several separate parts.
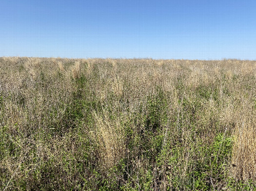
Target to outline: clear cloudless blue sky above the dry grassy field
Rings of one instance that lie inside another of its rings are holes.
[[[0,0],[0,56],[256,60],[256,0]]]

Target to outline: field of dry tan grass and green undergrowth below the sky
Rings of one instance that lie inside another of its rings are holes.
[[[256,191],[256,61],[0,57],[0,191]]]

